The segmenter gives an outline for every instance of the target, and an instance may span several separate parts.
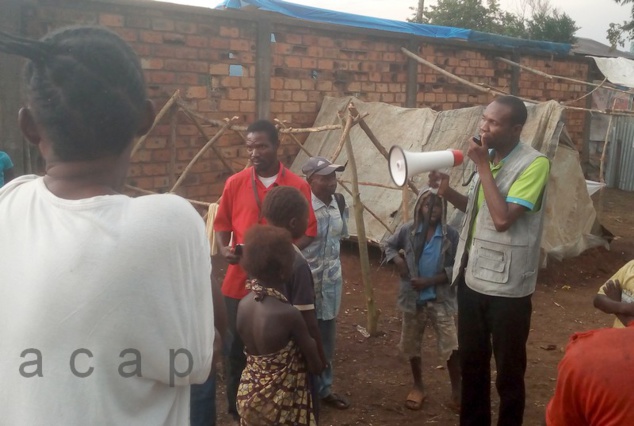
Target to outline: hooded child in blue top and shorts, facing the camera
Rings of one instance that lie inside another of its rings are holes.
[[[438,353],[447,363],[450,406],[454,411],[460,408],[456,295],[449,286],[458,232],[444,223],[444,212],[444,200],[429,189],[422,190],[414,207],[414,220],[401,225],[383,247],[386,260],[396,264],[401,276],[398,308],[403,312],[403,326],[399,348],[409,357],[414,379],[405,401],[411,410],[420,409],[426,397],[421,343],[427,322],[436,332]]]

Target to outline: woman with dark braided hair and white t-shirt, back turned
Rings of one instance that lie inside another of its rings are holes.
[[[26,58],[25,138],[45,175],[0,189],[0,412],[11,425],[183,425],[212,364],[209,243],[175,195],[121,194],[154,108],[135,52],[100,27]]]

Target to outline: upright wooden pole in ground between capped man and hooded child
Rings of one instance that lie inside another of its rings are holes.
[[[352,115],[348,113],[346,126],[344,129],[350,130],[352,123]],[[357,225],[357,240],[359,245],[359,260],[361,263],[361,277],[363,279],[365,300],[368,309],[367,330],[371,336],[378,334],[379,311],[374,302],[374,288],[372,286],[370,257],[368,255],[368,239],[365,233],[365,222],[363,220],[363,205],[359,194],[359,179],[357,175],[357,164],[354,159],[352,150],[352,142],[350,141],[349,132],[345,132],[346,153],[348,154],[348,167],[352,174],[352,205],[354,208],[354,220]]]

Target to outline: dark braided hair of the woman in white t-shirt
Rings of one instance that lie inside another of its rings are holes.
[[[0,52],[28,59],[29,106],[61,161],[118,156],[139,132],[147,108],[143,70],[114,32],[65,27],[39,41],[0,32]]]

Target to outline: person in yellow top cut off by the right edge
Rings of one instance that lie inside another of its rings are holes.
[[[616,315],[614,327],[621,328],[634,321],[634,260],[630,260],[599,289],[594,307]]]

